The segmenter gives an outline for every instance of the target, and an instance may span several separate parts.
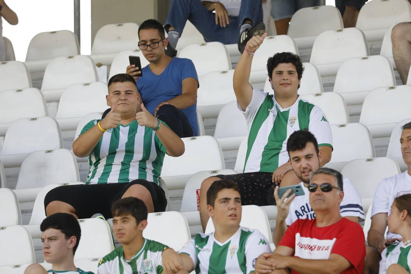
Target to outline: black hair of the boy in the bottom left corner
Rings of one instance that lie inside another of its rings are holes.
[[[40,225],[40,230],[42,232],[49,228],[54,228],[60,230],[61,233],[65,235],[66,239],[75,236],[77,241],[73,247],[73,255],[76,253],[77,246],[80,243],[81,228],[79,221],[72,215],[68,213],[55,213],[44,219]]]

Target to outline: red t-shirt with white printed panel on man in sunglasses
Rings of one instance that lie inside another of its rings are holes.
[[[316,219],[298,219],[287,228],[279,246],[294,249],[294,256],[302,259],[327,260],[330,254],[338,254],[352,264],[341,273],[364,273],[364,232],[346,218],[321,228],[316,227]]]

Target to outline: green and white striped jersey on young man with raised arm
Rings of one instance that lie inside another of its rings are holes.
[[[297,130],[308,129],[318,146],[332,147],[331,127],[321,108],[301,99],[281,108],[274,95],[253,89],[252,100],[244,113],[249,129],[243,172],[274,172],[289,159],[287,140]]]

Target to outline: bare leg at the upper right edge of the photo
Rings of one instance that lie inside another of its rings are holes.
[[[395,25],[391,32],[394,62],[405,85],[411,65],[411,23]]]

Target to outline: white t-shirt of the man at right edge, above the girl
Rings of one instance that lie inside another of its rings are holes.
[[[390,215],[391,205],[398,196],[411,193],[411,176],[407,171],[393,177],[383,179],[374,194],[372,201],[371,217],[378,213]],[[387,239],[402,238],[401,235],[393,234],[388,230]]]

